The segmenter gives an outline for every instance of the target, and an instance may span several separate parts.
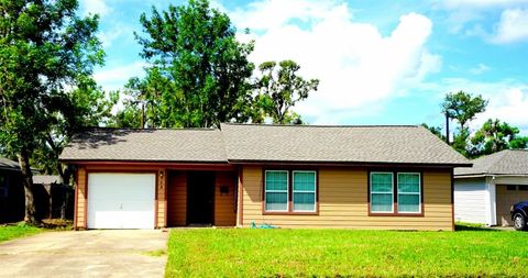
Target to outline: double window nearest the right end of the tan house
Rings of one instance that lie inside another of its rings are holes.
[[[370,212],[394,215],[421,213],[420,174],[372,171]]]

